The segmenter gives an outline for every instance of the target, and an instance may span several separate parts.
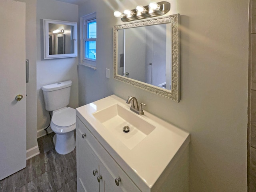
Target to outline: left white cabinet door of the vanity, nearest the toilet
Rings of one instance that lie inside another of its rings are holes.
[[[86,142],[86,138],[82,139],[82,134],[77,130],[77,153],[78,153],[78,192],[98,192],[99,183],[97,176],[99,173],[99,160]],[[95,172],[95,176],[94,173]]]

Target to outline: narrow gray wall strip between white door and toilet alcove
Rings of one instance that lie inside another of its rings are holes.
[[[26,3],[26,59],[29,60],[29,82],[26,83],[26,149],[37,147],[36,140],[36,0]]]

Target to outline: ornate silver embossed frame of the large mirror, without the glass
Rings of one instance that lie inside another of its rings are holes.
[[[121,82],[133,85],[135,87],[141,88],[148,92],[164,96],[166,98],[172,99],[176,102],[180,101],[180,37],[179,37],[179,16],[180,14],[174,14],[164,17],[158,17],[154,19],[147,19],[137,22],[130,22],[128,24],[120,24],[114,26],[113,31],[113,56],[114,56],[114,79]],[[171,90],[160,88],[151,84],[147,84],[138,80],[127,78],[125,76],[118,75],[118,30],[126,28],[134,28],[139,26],[148,26],[156,24],[171,24],[171,68],[172,68],[172,79],[171,79]]]

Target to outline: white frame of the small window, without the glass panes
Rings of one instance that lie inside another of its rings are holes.
[[[85,15],[80,18],[80,64],[84,66],[88,66],[96,70],[96,60],[92,60],[90,58],[85,58],[85,42],[86,41],[96,41],[96,52],[97,52],[97,38],[86,38],[86,28],[88,21],[97,21],[96,20],[96,12]]]

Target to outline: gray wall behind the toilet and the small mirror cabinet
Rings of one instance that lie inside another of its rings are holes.
[[[78,57],[44,60],[43,19],[78,22],[78,6],[55,0],[37,0],[37,129],[38,136],[50,123],[45,109],[41,87],[47,84],[72,80],[70,104],[78,107]],[[50,129],[48,129],[50,131]]]

